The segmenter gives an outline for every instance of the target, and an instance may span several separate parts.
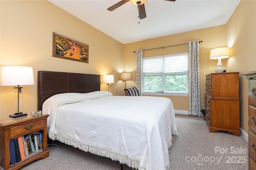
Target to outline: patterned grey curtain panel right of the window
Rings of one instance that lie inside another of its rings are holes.
[[[188,43],[188,115],[200,116],[199,42]]]

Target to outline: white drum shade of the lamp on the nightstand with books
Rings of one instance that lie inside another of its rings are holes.
[[[2,66],[0,69],[1,86],[33,85],[33,68],[26,66]]]

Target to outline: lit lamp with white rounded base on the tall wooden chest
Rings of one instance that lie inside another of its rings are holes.
[[[211,49],[210,51],[210,59],[218,59],[217,68],[215,68],[215,72],[224,72],[224,68],[222,67],[221,59],[225,59],[229,57],[229,47],[218,47],[215,49]]]

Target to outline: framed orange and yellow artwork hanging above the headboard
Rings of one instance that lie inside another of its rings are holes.
[[[53,32],[52,57],[88,63],[89,45]]]

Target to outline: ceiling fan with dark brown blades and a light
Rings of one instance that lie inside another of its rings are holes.
[[[145,6],[144,6],[144,3],[147,1],[147,0],[121,0],[120,2],[114,4],[113,6],[110,6],[108,8],[109,11],[113,11],[115,10],[116,8],[122,6],[123,4],[125,4],[126,2],[132,2],[132,4],[134,5],[137,5],[138,6],[138,10],[139,10],[139,17],[140,19],[142,20],[143,18],[146,18],[146,10],[145,10]],[[167,1],[176,1],[176,0],[167,0]]]

